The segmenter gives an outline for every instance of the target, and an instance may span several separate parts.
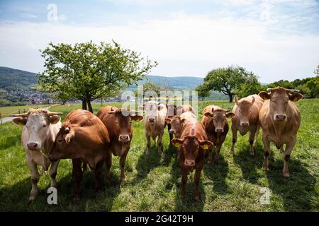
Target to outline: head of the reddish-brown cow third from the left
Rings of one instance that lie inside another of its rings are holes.
[[[142,115],[130,109],[115,109],[108,114],[113,114],[116,120],[116,129],[114,132],[118,136],[118,141],[128,142],[132,138],[132,121],[140,121]]]

